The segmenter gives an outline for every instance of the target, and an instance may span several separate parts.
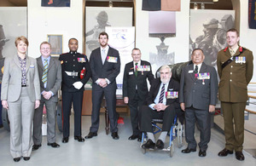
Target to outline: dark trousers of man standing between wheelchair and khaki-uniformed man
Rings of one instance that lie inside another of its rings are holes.
[[[190,149],[196,149],[195,121],[199,125],[201,151],[207,151],[207,144],[211,139],[211,113],[208,110],[197,110],[193,107],[185,109],[185,138]]]

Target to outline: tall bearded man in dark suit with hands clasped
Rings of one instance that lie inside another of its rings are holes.
[[[101,47],[95,49],[90,54],[90,67],[92,72],[92,115],[90,133],[85,139],[90,139],[97,135],[99,129],[99,113],[102,104],[103,94],[105,95],[108,115],[110,120],[110,130],[114,140],[119,139],[116,114],[116,89],[115,78],[120,72],[119,52],[108,46],[108,34],[102,32],[99,35]]]

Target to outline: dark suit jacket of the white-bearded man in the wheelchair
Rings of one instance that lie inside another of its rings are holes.
[[[152,83],[152,85],[149,89],[148,98],[147,98],[148,106],[154,103],[155,97],[157,96],[157,94],[160,90],[160,84],[161,84],[160,77],[156,78],[154,80],[154,82]],[[168,92],[172,92],[172,91],[179,92],[179,83],[171,78],[170,82],[168,84],[167,91]],[[155,104],[157,104],[157,103],[155,103]],[[166,99],[166,106],[167,105],[174,105],[176,109],[180,108],[178,98],[177,99]]]

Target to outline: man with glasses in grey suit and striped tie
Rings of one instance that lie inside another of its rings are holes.
[[[37,58],[40,81],[41,103],[34,114],[32,150],[38,150],[42,143],[42,116],[44,105],[47,111],[48,146],[59,147],[55,143],[55,111],[58,102],[58,89],[61,86],[61,62],[50,56],[51,45],[43,42],[40,45],[41,56]]]

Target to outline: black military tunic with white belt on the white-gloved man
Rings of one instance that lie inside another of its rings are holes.
[[[87,60],[85,54],[79,54],[78,52],[68,52],[61,54],[59,57],[61,60],[61,72],[62,72],[62,83],[61,90],[65,92],[81,92],[84,91],[84,87],[81,89],[75,89],[73,83],[82,82],[87,83],[91,76],[90,63]],[[83,68],[86,70],[83,79],[78,76],[68,76],[66,72],[81,72]]]

